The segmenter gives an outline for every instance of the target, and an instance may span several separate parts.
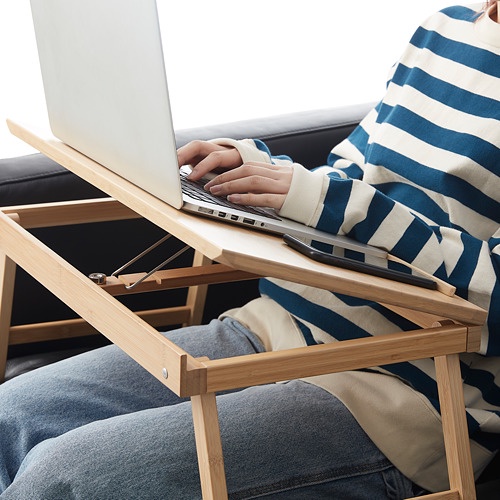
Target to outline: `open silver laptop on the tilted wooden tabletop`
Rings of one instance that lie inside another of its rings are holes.
[[[31,0],[31,10],[55,137],[176,209],[386,257],[273,210],[183,193],[196,186],[177,162],[155,0]]]

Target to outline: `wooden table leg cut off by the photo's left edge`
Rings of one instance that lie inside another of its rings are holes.
[[[0,253],[0,383],[5,380],[16,263]]]

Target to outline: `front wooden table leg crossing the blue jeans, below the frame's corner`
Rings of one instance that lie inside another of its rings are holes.
[[[191,396],[203,500],[227,499],[215,393]]]

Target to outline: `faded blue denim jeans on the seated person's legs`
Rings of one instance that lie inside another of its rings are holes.
[[[263,350],[225,320],[167,334],[194,356]],[[0,386],[0,498],[201,498],[189,401],[115,346]],[[304,381],[217,396],[229,497],[400,499],[414,485],[343,404]]]

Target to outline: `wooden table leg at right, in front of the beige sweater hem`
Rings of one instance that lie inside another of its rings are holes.
[[[443,419],[450,489],[461,500],[475,500],[474,473],[465,415],[464,393],[458,354],[436,356],[436,377]]]

